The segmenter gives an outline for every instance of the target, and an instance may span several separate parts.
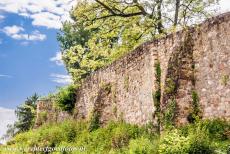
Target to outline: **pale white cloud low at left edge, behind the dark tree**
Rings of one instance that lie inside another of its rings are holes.
[[[6,109],[0,107],[0,138],[6,133],[7,131],[7,125],[13,124],[16,121],[16,115],[14,113],[14,110],[12,109]],[[4,142],[3,140],[0,142]]]

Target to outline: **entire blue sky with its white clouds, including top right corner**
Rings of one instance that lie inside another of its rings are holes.
[[[0,0],[0,136],[14,109],[33,93],[47,95],[71,82],[56,34],[76,0]],[[229,0],[220,0],[230,11]],[[218,14],[217,13],[217,14]]]

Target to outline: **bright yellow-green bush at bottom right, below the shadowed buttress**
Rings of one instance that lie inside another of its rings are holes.
[[[208,123],[211,121],[208,121]],[[187,125],[186,128],[166,131],[161,138],[160,153],[212,154],[215,142],[203,122]],[[185,133],[186,130],[186,133]]]

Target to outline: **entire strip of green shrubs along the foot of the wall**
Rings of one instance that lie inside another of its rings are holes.
[[[64,121],[18,134],[8,142],[7,147],[78,147],[83,150],[62,152],[68,154],[226,153],[230,140],[220,136],[229,130],[229,125],[229,122],[220,119],[198,121],[180,128],[166,129],[159,137],[145,128],[123,122],[111,122],[89,131],[86,122]]]

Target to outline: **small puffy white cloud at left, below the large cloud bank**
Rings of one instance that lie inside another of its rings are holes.
[[[20,26],[6,26],[2,30],[7,36],[16,40],[26,40],[26,41],[43,41],[46,39],[45,34],[41,34],[38,30],[32,31],[31,34],[26,34],[24,28]]]

